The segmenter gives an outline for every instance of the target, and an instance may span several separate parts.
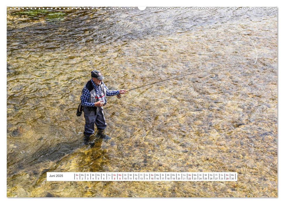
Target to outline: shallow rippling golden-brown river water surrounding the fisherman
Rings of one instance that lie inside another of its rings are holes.
[[[76,109],[93,69],[110,90],[197,74],[108,97],[111,139],[89,147]],[[49,171],[238,181],[47,182]],[[277,8],[7,8],[7,196],[276,197]]]

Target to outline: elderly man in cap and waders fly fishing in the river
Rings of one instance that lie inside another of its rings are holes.
[[[85,84],[81,92],[81,103],[77,109],[77,116],[84,111],[85,130],[84,143],[86,145],[94,145],[89,142],[89,137],[94,133],[94,125],[97,126],[98,136],[108,140],[109,136],[104,133],[106,129],[106,120],[104,118],[103,105],[106,105],[106,96],[114,96],[125,94],[127,90],[119,89],[115,91],[109,90],[102,80],[104,76],[97,70],[91,71],[91,79]]]

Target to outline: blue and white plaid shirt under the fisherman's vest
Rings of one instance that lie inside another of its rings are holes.
[[[93,87],[95,89],[96,95],[98,96],[102,92],[101,87],[98,86],[98,85],[95,85],[93,80],[91,80],[91,82],[92,82],[92,85],[93,85]],[[104,82],[101,82],[101,84],[104,87],[106,87],[106,85],[104,85]],[[109,90],[106,87],[106,96],[114,96],[114,95],[117,95],[117,94],[119,94],[119,90],[111,91],[111,90]],[[89,89],[85,88],[83,90],[80,99],[81,99],[81,105],[84,105],[84,106],[94,106],[94,103],[89,102],[89,99],[90,99],[90,91],[89,91]]]

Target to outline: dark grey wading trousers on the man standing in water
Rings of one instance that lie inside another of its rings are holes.
[[[85,117],[85,136],[90,136],[94,133],[94,126],[96,124],[97,128],[105,129],[106,128],[106,120],[104,119],[104,112],[102,107],[97,108],[96,111],[89,111],[85,106],[83,108],[84,117]]]

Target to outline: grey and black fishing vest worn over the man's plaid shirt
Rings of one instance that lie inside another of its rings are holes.
[[[92,79],[91,79],[92,80]],[[93,87],[93,84],[92,84],[92,81],[89,80],[84,88],[82,89],[82,92],[81,94],[83,94],[83,90],[85,88],[87,88],[90,92],[90,98],[89,98],[89,102],[91,103],[96,103],[98,102],[99,100],[103,101],[104,102],[104,105],[106,105],[106,87],[104,86],[103,82],[101,82],[101,84],[99,85],[100,88],[101,88],[101,93],[96,93],[96,89],[94,89]],[[94,107],[89,107],[89,106],[86,106],[86,108],[88,108],[89,110],[91,111],[94,111],[94,110],[97,110],[97,107],[94,106]]]

